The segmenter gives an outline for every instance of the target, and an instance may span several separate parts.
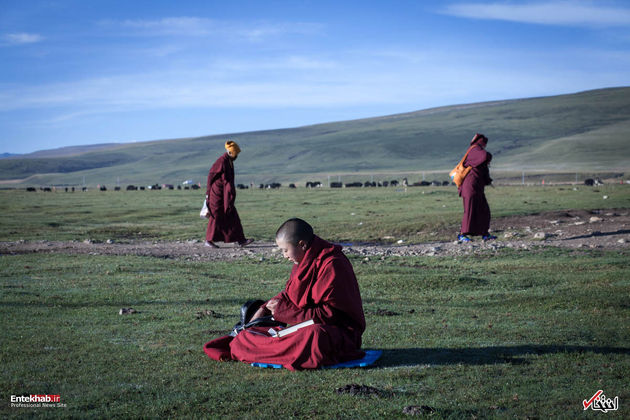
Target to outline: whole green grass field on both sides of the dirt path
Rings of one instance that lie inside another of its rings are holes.
[[[504,187],[488,196],[497,216],[630,208],[630,188],[621,185]],[[186,191],[2,191],[0,237],[201,238],[201,198]],[[246,232],[265,239],[300,215],[335,240],[377,239],[395,229],[421,240],[419,231],[456,229],[460,206],[454,189],[440,188],[237,197]],[[351,257],[368,324],[364,348],[383,356],[370,369],[307,372],[219,363],[202,351],[232,327],[241,303],[283,287],[286,261],[1,255],[0,416],[406,418],[403,408],[417,405],[434,410],[432,418],[627,418],[628,254],[541,248]],[[123,307],[138,313],[118,315]],[[353,383],[379,394],[335,392]],[[582,401],[600,389],[619,397],[619,411],[583,411]],[[66,407],[10,407],[11,395],[25,394],[57,394]]]

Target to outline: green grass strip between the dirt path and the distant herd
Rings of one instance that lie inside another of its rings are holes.
[[[630,185],[488,188],[493,217],[563,209],[630,207]],[[203,192],[0,191],[2,240],[202,239]],[[609,198],[604,200],[603,196]],[[245,234],[271,241],[289,217],[309,221],[336,241],[449,240],[457,233],[461,198],[454,187],[243,190],[236,198]],[[393,237],[394,239],[386,239]]]

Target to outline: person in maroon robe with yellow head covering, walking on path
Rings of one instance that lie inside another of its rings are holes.
[[[238,242],[243,247],[254,242],[245,239],[241,219],[238,217],[234,200],[234,161],[241,152],[235,142],[225,142],[227,152],[217,159],[208,172],[206,201],[208,204],[208,229],[206,230],[206,246],[218,248],[214,241]]]

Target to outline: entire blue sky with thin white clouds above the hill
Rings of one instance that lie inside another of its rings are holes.
[[[630,85],[628,1],[0,0],[0,152]]]

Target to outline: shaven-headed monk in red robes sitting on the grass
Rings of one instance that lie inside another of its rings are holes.
[[[206,354],[215,360],[279,364],[290,370],[315,369],[364,356],[361,335],[365,318],[359,285],[352,264],[332,245],[313,234],[301,219],[289,219],[276,232],[276,243],[293,262],[291,276],[276,297],[252,316],[272,314],[295,325],[315,324],[283,337],[272,337],[269,327],[252,327],[236,337],[206,343]]]

